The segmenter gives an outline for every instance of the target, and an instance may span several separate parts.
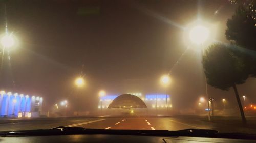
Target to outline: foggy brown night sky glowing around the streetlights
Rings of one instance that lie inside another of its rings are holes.
[[[108,94],[127,92],[164,93],[159,85],[161,75],[185,51],[184,31],[154,17],[157,13],[181,27],[200,18],[218,27],[216,39],[225,38],[226,21],[236,5],[228,1],[7,1],[9,32],[19,39],[19,46],[7,54],[0,87],[44,97],[44,109],[77,95],[74,79],[82,64],[86,86],[80,89],[84,110],[97,108],[98,91]],[[99,8],[99,13],[81,14]],[[215,14],[216,10],[218,13]],[[4,33],[4,3],[0,3],[0,32]],[[205,94],[204,74],[197,51],[188,49],[174,67],[173,107],[186,109],[197,105]],[[12,81],[15,81],[15,86]],[[255,99],[255,79],[238,86],[240,95]],[[254,87],[254,88],[253,88]],[[209,96],[221,106],[237,106],[233,90],[221,91],[209,86]],[[221,107],[220,107],[221,108]]]

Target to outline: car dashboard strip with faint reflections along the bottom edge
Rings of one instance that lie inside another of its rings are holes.
[[[244,139],[225,139],[225,138],[206,138],[206,137],[161,137],[161,136],[137,136],[137,135],[46,135],[46,136],[2,136],[0,142],[165,142],[165,143],[180,143],[180,142],[256,142],[255,140]]]

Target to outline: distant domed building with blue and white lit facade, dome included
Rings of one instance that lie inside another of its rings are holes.
[[[166,102],[167,100],[167,102]],[[98,102],[99,114],[120,115],[158,115],[170,113],[172,110],[172,100],[166,94],[142,94],[127,93],[121,95],[105,95],[100,97]]]

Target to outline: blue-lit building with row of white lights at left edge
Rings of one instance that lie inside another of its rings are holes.
[[[0,92],[0,117],[37,117],[42,110],[42,97]]]

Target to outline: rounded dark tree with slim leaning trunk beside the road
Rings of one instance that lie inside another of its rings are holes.
[[[203,55],[207,83],[215,88],[229,90],[233,88],[239,105],[243,123],[246,123],[243,107],[237,90],[237,84],[242,84],[248,78],[243,58],[234,54],[230,46],[224,44],[213,44],[209,46]]]

